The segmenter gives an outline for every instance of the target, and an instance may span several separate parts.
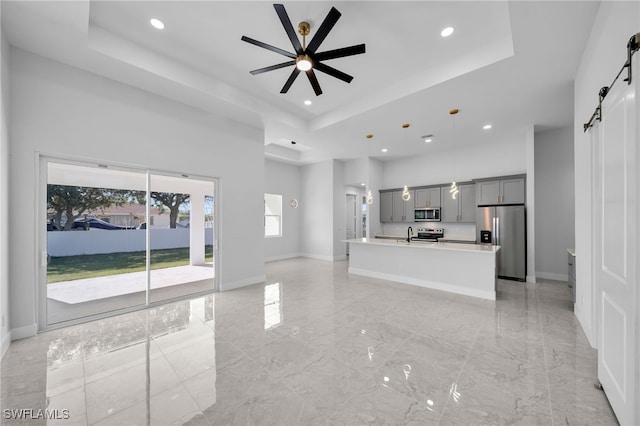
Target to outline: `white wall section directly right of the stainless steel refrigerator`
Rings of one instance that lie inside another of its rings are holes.
[[[573,127],[535,135],[536,276],[567,281],[575,247]]]

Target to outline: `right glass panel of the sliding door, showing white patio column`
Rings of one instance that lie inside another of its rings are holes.
[[[214,289],[213,190],[210,181],[150,176],[150,303]]]

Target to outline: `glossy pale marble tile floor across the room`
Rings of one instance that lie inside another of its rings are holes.
[[[272,262],[264,284],[16,341],[0,421],[617,424],[565,283],[500,281],[492,302],[347,267]]]

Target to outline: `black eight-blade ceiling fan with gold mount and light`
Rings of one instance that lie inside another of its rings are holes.
[[[291,75],[282,87],[282,90],[280,90],[280,93],[287,93],[296,77],[298,77],[298,74],[300,74],[301,71],[304,71],[309,78],[309,82],[311,83],[311,87],[313,87],[316,96],[322,94],[322,89],[320,88],[320,84],[318,83],[318,79],[314,70],[329,74],[330,76],[347,83],[350,83],[351,80],[353,80],[353,77],[349,74],[343,73],[342,71],[330,67],[329,65],[326,65],[321,61],[342,58],[351,55],[359,55],[365,52],[364,44],[342,47],[340,49],[327,50],[324,52],[317,52],[322,42],[329,34],[329,31],[331,31],[333,26],[336,24],[336,22],[338,22],[338,19],[340,19],[340,16],[342,15],[335,7],[332,7],[327,16],[324,18],[324,21],[322,21],[320,28],[318,28],[318,31],[311,39],[311,42],[309,42],[308,46],[306,46],[306,37],[307,35],[309,35],[309,32],[311,30],[311,26],[309,25],[309,23],[303,21],[298,24],[298,32],[300,33],[300,35],[302,35],[302,44],[300,44],[300,40],[298,40],[298,36],[293,29],[293,25],[291,25],[291,20],[289,20],[289,15],[287,15],[287,11],[285,10],[284,5],[274,4],[273,7],[276,9],[276,13],[280,18],[280,22],[282,23],[287,36],[289,36],[289,40],[291,40],[291,45],[293,46],[294,53],[288,52],[270,44],[263,43],[258,40],[254,40],[247,36],[242,36],[242,41],[246,41],[247,43],[251,43],[264,49],[271,50],[275,53],[279,53],[280,55],[291,58],[292,60],[250,71],[252,75],[262,74],[267,71],[273,71],[280,68],[288,67],[290,65],[295,65],[293,71],[291,72]]]

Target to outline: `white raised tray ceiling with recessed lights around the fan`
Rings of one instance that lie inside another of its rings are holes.
[[[449,149],[451,108],[460,109],[457,146],[515,138],[531,125],[570,124],[573,76],[599,2],[284,5],[294,27],[311,24],[310,37],[332,6],[342,13],[319,51],[366,44],[363,55],[327,61],[354,76],[350,84],[317,73],[321,96],[300,77],[283,95],[290,68],[250,75],[285,58],[242,35],[291,50],[267,1],[5,0],[2,24],[12,45],[264,128],[267,155],[306,163]],[[154,17],[164,30],[149,24]],[[442,38],[447,26],[455,32]],[[409,129],[401,128],[405,122]],[[485,123],[494,127],[485,131]],[[374,138],[365,139],[368,133]],[[434,142],[422,142],[425,134]]]

